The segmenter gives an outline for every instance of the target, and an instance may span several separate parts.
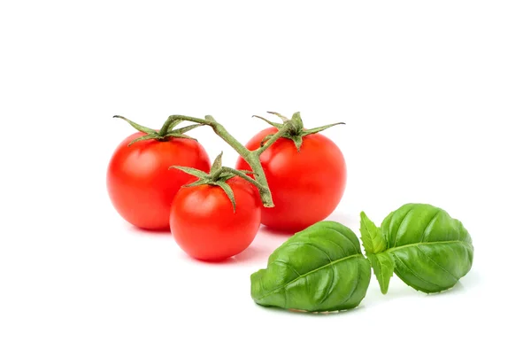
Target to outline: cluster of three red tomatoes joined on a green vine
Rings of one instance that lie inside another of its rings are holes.
[[[248,151],[209,116],[171,116],[160,130],[120,117],[139,132],[119,144],[109,163],[113,206],[136,227],[171,229],[181,249],[198,260],[242,252],[260,223],[295,232],[325,219],[346,184],[342,151],[318,133],[333,125],[306,129],[298,113],[277,115],[283,123],[267,121],[273,128],[251,137]],[[211,166],[204,147],[185,135],[198,125],[173,129],[182,120],[211,126],[239,150],[235,168],[222,167],[220,156]]]

